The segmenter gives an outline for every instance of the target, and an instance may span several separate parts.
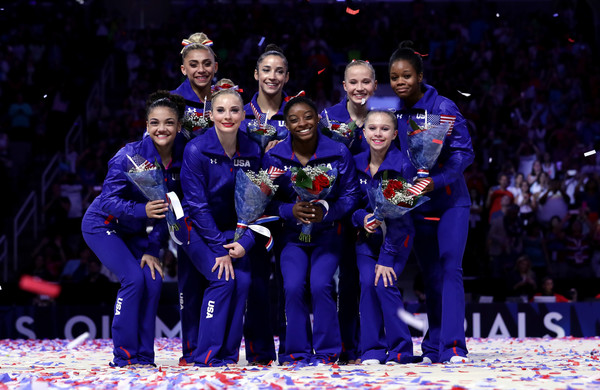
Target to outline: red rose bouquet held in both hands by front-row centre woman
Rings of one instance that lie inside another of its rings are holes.
[[[329,206],[323,199],[331,192],[336,177],[337,169],[331,168],[329,164],[317,165],[315,167],[307,165],[302,168],[293,167],[291,181],[300,200],[321,203],[327,210]],[[311,223],[303,224],[302,232],[299,236],[300,241],[310,242],[311,231]]]

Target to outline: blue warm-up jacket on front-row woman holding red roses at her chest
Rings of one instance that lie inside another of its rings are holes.
[[[334,231],[334,222],[349,215],[356,207],[359,197],[354,161],[348,148],[324,135],[317,134],[317,137],[319,137],[317,150],[308,161],[308,165],[331,164],[332,168],[337,168],[338,173],[333,189],[325,198],[329,203],[329,212],[322,222],[315,223],[313,226],[312,235],[315,237],[313,244],[319,242],[321,233]],[[282,239],[285,242],[292,241],[302,245],[304,243],[298,239],[301,225],[292,213],[298,196],[290,180],[290,169],[292,167],[300,168],[302,164],[292,150],[292,137],[286,138],[265,154],[263,167],[270,166],[284,169],[286,172],[275,180],[275,184],[279,185],[279,188],[267,206],[267,214],[279,215],[283,220],[285,232]]]

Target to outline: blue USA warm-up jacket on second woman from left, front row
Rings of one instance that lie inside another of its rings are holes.
[[[216,130],[207,130],[187,144],[181,168],[184,211],[215,258],[228,253],[223,245],[231,241],[237,225],[235,174],[238,169],[257,171],[261,164],[260,146],[243,132],[237,137],[238,151],[230,159]],[[251,230],[246,229],[238,242],[249,251],[254,245]]]

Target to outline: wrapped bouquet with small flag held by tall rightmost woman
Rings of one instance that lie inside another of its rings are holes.
[[[416,117],[420,118],[419,115]],[[409,119],[408,157],[417,168],[417,177],[429,176],[429,170],[437,161],[444,146],[444,138],[452,131],[455,119],[451,115],[427,115],[427,111],[422,126],[412,118]]]

